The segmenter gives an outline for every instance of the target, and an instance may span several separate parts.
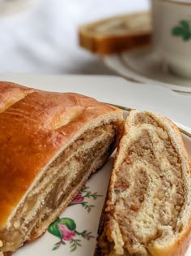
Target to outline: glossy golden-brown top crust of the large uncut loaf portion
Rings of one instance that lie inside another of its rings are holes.
[[[92,119],[119,110],[77,93],[49,93],[7,82],[0,82],[0,94],[2,109],[9,106],[0,113],[3,226],[57,151]]]

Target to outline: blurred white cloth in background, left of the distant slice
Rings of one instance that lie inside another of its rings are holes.
[[[112,74],[79,47],[79,25],[149,8],[149,0],[0,0],[0,73]]]

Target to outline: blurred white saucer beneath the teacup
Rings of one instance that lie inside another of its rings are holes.
[[[162,85],[177,92],[191,93],[191,79],[176,76],[167,69],[164,71],[161,59],[151,50],[151,47],[106,55],[103,58],[106,66],[129,80]]]

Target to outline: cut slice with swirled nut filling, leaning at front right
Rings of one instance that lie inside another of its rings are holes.
[[[182,256],[191,239],[191,163],[167,118],[130,111],[100,221],[96,255]]]

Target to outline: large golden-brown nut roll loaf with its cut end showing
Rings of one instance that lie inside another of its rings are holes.
[[[77,93],[0,82],[0,251],[42,235],[103,166],[122,111]]]

